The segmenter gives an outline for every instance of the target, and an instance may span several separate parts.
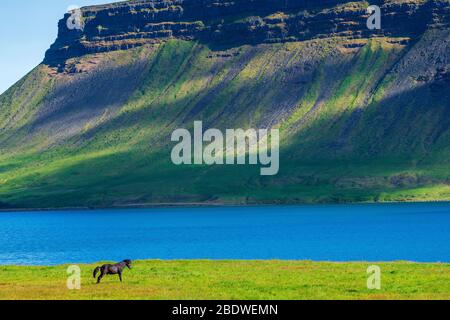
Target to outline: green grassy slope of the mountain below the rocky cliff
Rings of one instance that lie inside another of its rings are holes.
[[[116,116],[61,144],[48,133],[28,136],[37,103],[28,93],[52,85],[36,69],[0,99],[0,126],[17,109],[24,120],[0,128],[0,208],[449,201],[447,95],[422,88],[387,99],[396,80],[388,71],[410,48],[365,40],[331,59],[341,41],[242,46],[226,59],[181,40],[104,54],[122,66],[147,57],[142,81]],[[311,70],[297,79],[304,61]],[[258,127],[286,96],[294,107],[275,125],[282,130],[277,176],[261,177],[259,166],[171,163],[174,129],[194,120]]]

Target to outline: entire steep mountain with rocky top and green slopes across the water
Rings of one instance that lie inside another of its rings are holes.
[[[0,96],[0,206],[450,200],[450,0],[150,0],[66,14]],[[7,46],[5,48],[7,50]],[[280,171],[171,134],[280,129]]]

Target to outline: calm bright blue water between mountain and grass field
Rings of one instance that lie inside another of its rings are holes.
[[[125,258],[450,262],[450,204],[0,213],[0,265]]]

